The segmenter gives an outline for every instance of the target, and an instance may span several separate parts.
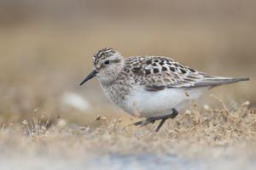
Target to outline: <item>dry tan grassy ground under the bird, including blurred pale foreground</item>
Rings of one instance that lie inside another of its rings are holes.
[[[253,169],[256,110],[248,105],[193,105],[159,133],[152,125],[134,127],[104,116],[95,127],[49,122],[35,111],[31,120],[3,125],[1,167],[20,169],[22,162],[24,169]]]

